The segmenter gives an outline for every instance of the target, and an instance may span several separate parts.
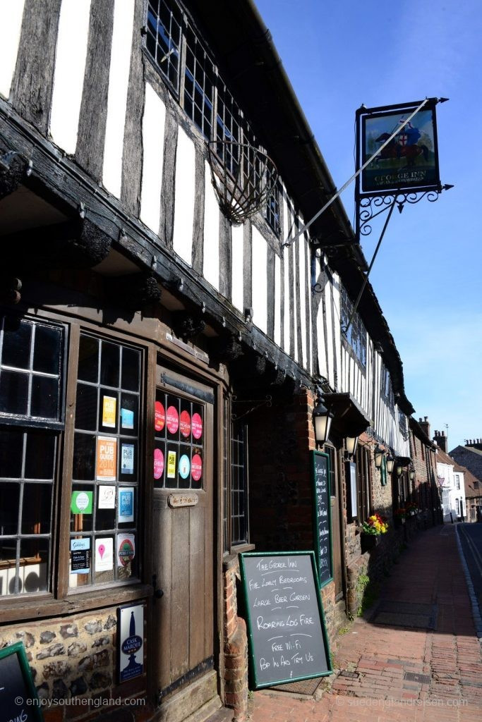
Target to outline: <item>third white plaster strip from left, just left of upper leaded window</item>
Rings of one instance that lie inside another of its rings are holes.
[[[116,0],[113,15],[106,142],[102,175],[104,186],[116,198],[121,197],[122,152],[124,148],[133,22],[134,0]]]

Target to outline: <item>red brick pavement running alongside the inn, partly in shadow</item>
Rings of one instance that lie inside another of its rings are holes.
[[[254,692],[252,721],[480,722],[481,643],[455,526],[418,534],[384,580],[384,602],[436,605],[434,629],[374,625],[374,606],[338,637],[335,674],[320,685],[317,699]]]

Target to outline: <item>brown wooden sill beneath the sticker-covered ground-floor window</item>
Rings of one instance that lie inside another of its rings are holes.
[[[147,599],[152,596],[150,584],[139,584],[135,587],[115,587],[69,595],[68,599],[53,599],[50,595],[35,596],[26,599],[25,596],[14,600],[0,600],[0,620],[16,622],[22,619],[44,619],[46,617],[60,617],[66,614],[88,612],[90,609],[100,609],[105,606],[119,606],[137,599]],[[115,599],[115,601],[114,601]]]

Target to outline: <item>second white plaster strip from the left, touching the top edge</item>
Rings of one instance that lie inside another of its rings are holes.
[[[63,0],[53,73],[50,131],[71,155],[77,145],[89,37],[90,0]]]

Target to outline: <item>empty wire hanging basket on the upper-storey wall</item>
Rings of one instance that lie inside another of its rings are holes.
[[[216,140],[208,148],[220,209],[231,223],[244,223],[267,203],[277,183],[277,168],[264,151],[249,143]]]

